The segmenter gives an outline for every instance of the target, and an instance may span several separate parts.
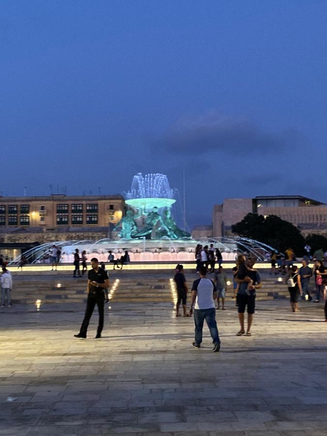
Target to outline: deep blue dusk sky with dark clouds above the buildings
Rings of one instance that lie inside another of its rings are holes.
[[[0,4],[0,195],[183,190],[327,202],[327,1]]]

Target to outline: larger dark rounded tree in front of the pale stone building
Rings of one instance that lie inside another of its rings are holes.
[[[264,217],[250,213],[232,226],[232,232],[256,239],[282,253],[289,247],[294,249],[297,256],[302,256],[304,252],[305,241],[300,231],[276,215]]]

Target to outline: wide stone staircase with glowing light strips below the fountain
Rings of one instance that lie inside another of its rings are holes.
[[[232,274],[227,271],[229,276]],[[145,272],[131,274],[129,272],[110,274],[110,302],[173,302],[176,299],[173,274]],[[213,275],[208,275],[213,278]],[[188,289],[191,289],[195,274],[186,274]],[[86,277],[73,279],[70,275],[13,275],[13,303],[35,304],[37,300],[44,303],[83,303],[86,301]],[[232,281],[232,279],[231,279]],[[277,280],[276,276],[262,273],[263,286],[257,290],[257,299],[272,300],[288,297],[285,280]],[[228,287],[227,299],[233,296],[233,286]]]

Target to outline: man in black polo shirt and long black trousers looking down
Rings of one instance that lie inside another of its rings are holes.
[[[90,318],[93,313],[94,306],[97,305],[99,311],[99,325],[96,332],[95,339],[101,338],[103,329],[104,318],[104,305],[105,305],[105,288],[109,288],[109,278],[105,270],[99,267],[98,260],[93,257],[91,259],[92,269],[88,272],[87,281],[87,303],[86,310],[82,325],[80,326],[79,333],[74,335],[78,339],[86,339],[87,327],[89,326]]]

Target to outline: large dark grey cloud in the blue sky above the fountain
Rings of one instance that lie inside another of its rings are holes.
[[[297,132],[268,132],[247,120],[217,113],[179,120],[161,138],[150,141],[159,153],[204,154],[210,152],[273,154],[298,143]]]

